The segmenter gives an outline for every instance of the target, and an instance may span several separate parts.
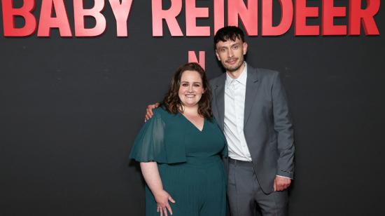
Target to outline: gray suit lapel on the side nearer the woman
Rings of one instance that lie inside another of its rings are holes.
[[[223,130],[225,126],[225,81],[226,74],[222,74],[219,78],[218,83],[216,84],[216,88],[214,90],[215,98],[216,98],[216,110],[218,111],[218,124]]]

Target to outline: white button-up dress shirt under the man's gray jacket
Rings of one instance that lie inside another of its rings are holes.
[[[226,73],[225,82],[225,127],[230,158],[251,161],[250,151],[244,137],[244,102],[246,97],[247,65],[237,79]]]

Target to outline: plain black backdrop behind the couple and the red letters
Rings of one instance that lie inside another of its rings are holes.
[[[197,6],[212,17],[211,1]],[[103,13],[108,28],[92,38],[56,29],[50,38],[6,38],[0,28],[0,215],[144,215],[143,181],[127,155],[146,105],[162,98],[188,50],[205,50],[208,76],[221,74],[212,37],[171,37],[166,25],[165,36],[152,36],[151,1],[133,2],[127,38],[116,36],[108,1]],[[178,19],[183,30],[184,11]],[[248,63],[280,71],[290,100],[290,215],[385,215],[383,36],[293,34],[292,26],[246,38]]]

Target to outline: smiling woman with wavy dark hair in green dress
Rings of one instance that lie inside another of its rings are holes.
[[[179,67],[153,118],[141,128],[130,158],[141,162],[146,215],[225,215],[225,137],[213,119],[206,74]]]

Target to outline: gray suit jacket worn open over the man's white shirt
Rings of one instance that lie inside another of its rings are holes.
[[[212,109],[223,130],[226,74],[210,81]],[[279,72],[247,65],[244,135],[262,190],[274,191],[276,175],[293,178],[294,139]]]

